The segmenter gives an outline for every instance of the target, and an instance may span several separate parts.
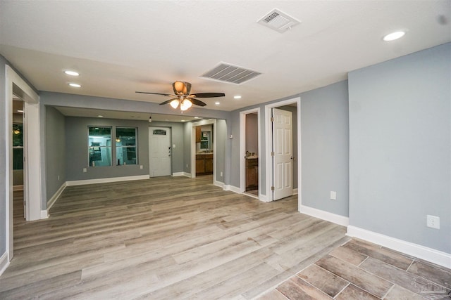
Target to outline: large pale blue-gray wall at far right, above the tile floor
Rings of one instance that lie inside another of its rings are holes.
[[[350,225],[451,253],[451,44],[350,72],[349,93]]]

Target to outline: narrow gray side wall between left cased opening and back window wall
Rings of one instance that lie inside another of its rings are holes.
[[[47,197],[42,198],[42,207],[66,182],[66,132],[65,118],[54,107],[45,107],[45,184]],[[59,176],[59,179],[58,179]]]

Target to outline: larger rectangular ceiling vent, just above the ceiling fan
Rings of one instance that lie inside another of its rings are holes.
[[[260,74],[261,73],[259,72],[247,70],[243,67],[220,63],[217,67],[214,67],[213,70],[202,74],[201,77],[228,82],[230,84],[242,84]]]

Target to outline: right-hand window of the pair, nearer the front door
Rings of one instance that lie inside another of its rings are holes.
[[[116,127],[116,159],[121,164],[137,164],[136,128]]]

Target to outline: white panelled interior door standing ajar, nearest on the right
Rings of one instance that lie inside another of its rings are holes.
[[[293,195],[292,112],[273,108],[273,200]]]

